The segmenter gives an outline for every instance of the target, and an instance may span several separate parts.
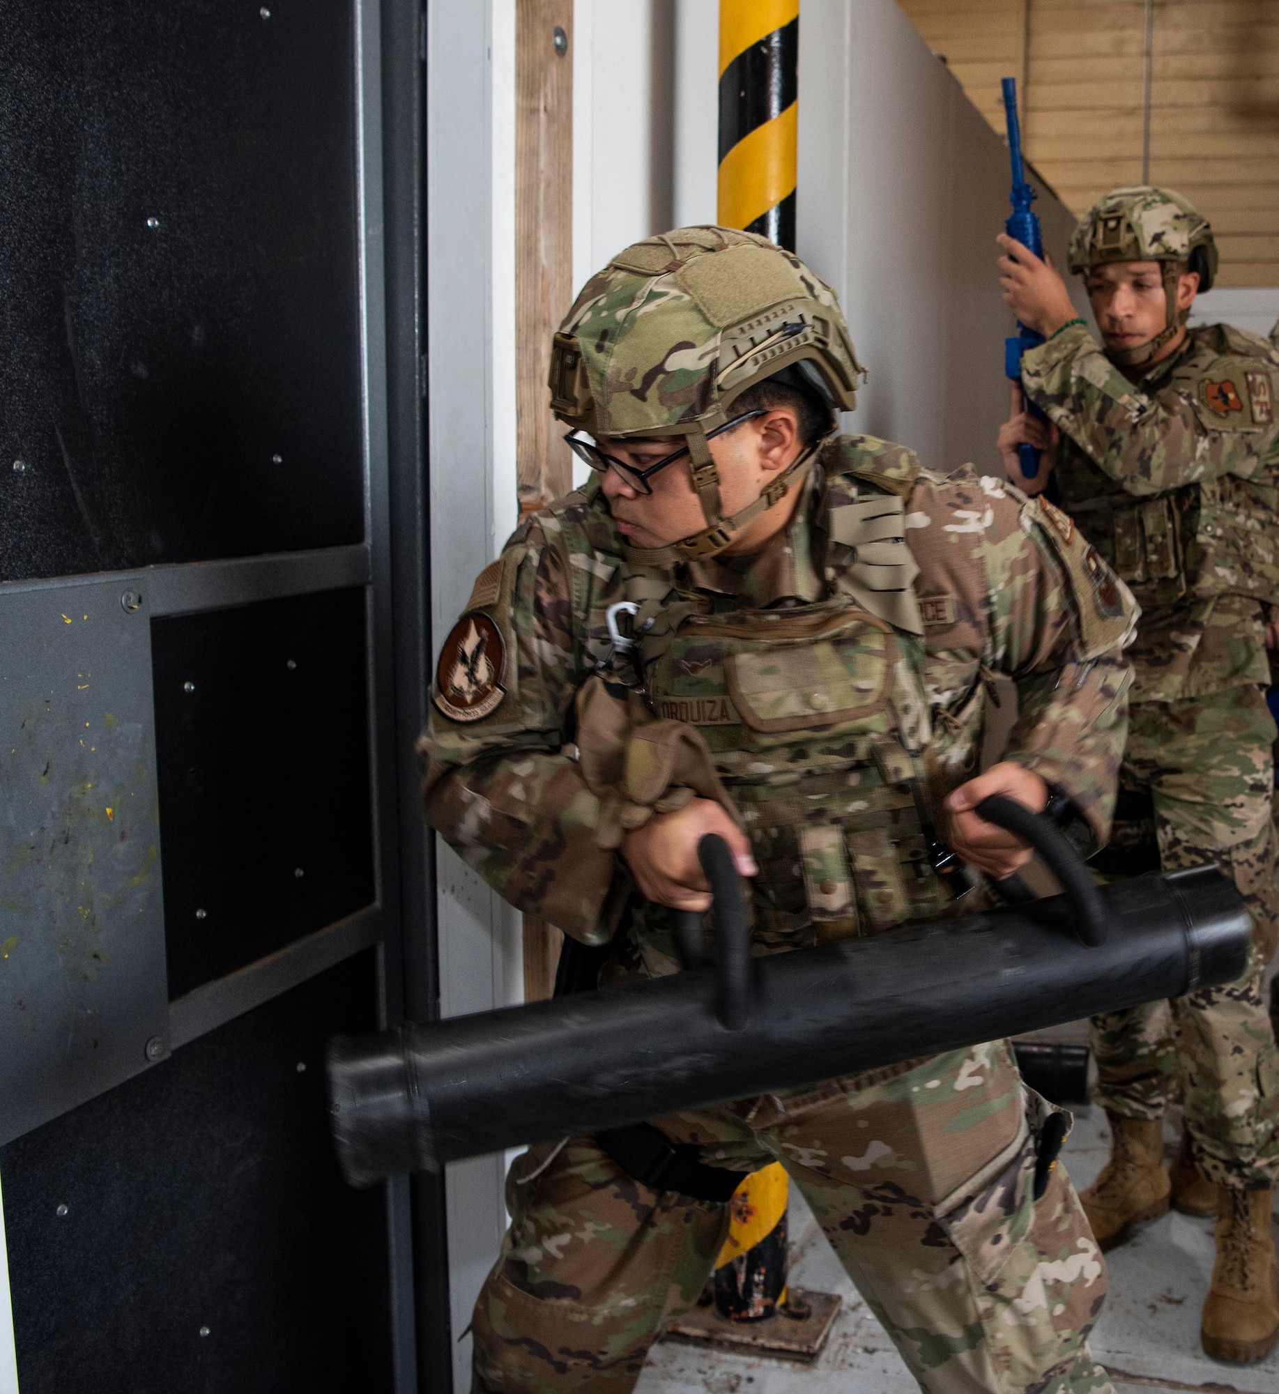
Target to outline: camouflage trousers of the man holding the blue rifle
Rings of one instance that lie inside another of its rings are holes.
[[[1092,1020],[1098,1103],[1161,1118],[1180,1094],[1200,1171],[1246,1189],[1279,1177],[1279,1057],[1261,981],[1279,931],[1273,740],[1257,687],[1134,705],[1115,835],[1095,859],[1106,875],[1215,861],[1253,913],[1237,981]]]

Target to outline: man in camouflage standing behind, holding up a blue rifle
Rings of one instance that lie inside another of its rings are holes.
[[[1124,875],[1216,861],[1255,931],[1237,983],[1172,1004],[1172,1034],[1159,1004],[1094,1022],[1113,1143],[1081,1200],[1103,1248],[1170,1197],[1188,1213],[1215,1209],[1202,1342],[1251,1363],[1279,1335],[1279,1058],[1261,997],[1279,919],[1265,700],[1265,626],[1279,602],[1279,353],[1227,325],[1187,328],[1216,248],[1207,219],[1170,191],[1116,190],[1076,229],[1070,269],[1085,276],[1103,344],[1049,259],[999,243],[1003,297],[1046,339],[1021,360],[999,435],[1005,466],[1031,493],[1056,481],[1062,509],[1142,606],[1115,835],[1094,866]],[[1027,443],[1042,452],[1031,480],[1018,468]],[[1187,1138],[1169,1177],[1162,1118],[1179,1083]]]

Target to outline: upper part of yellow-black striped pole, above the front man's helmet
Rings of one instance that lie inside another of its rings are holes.
[[[719,223],[794,251],[800,0],[719,0]]]

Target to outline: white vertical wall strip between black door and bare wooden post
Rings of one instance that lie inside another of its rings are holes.
[[[514,0],[428,7],[426,316],[432,633],[436,651],[518,517],[516,496]],[[440,839],[437,912],[446,1016],[524,997],[520,916]],[[449,1167],[454,1380],[457,1341],[506,1225],[504,1160]]]

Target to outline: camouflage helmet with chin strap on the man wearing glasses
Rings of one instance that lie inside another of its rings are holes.
[[[804,450],[726,519],[706,434],[752,383],[791,369],[833,411],[851,411],[865,369],[835,291],[793,254],[733,227],[679,227],[627,247],[582,287],[555,336],[550,407],[592,436],[687,436],[706,527],[672,546],[628,549],[672,566],[709,556],[776,503]]]

